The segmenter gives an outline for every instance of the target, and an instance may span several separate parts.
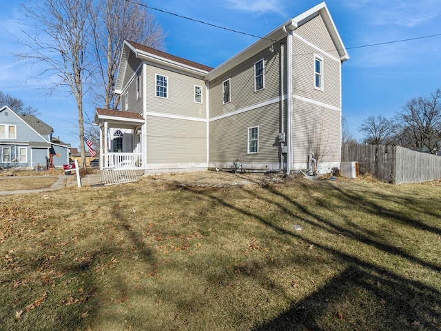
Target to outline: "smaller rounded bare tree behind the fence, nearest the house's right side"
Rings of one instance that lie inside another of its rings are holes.
[[[379,146],[391,142],[396,132],[396,125],[392,120],[382,117],[369,116],[359,128],[365,136],[364,142]]]

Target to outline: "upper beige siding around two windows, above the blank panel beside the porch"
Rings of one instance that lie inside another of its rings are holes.
[[[168,99],[156,97],[155,74],[168,77]],[[194,86],[201,86],[203,103],[194,102]],[[206,118],[206,88],[205,81],[185,74],[165,70],[155,66],[147,66],[147,112],[174,114],[184,117]],[[206,160],[205,160],[206,161]]]

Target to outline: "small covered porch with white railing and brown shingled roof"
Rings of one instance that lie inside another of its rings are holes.
[[[100,129],[99,167],[143,169],[143,124],[137,112],[96,108],[94,124]]]

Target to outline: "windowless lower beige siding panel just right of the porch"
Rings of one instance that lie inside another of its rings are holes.
[[[205,163],[206,123],[147,116],[147,163]]]

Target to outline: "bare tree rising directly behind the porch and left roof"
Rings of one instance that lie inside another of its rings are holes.
[[[154,22],[152,14],[130,1],[100,1],[91,12],[90,19],[96,71],[102,82],[98,92],[102,99],[99,104],[103,108],[117,109],[120,96],[114,93],[114,88],[123,41],[136,41],[163,50],[165,34],[161,26]]]

